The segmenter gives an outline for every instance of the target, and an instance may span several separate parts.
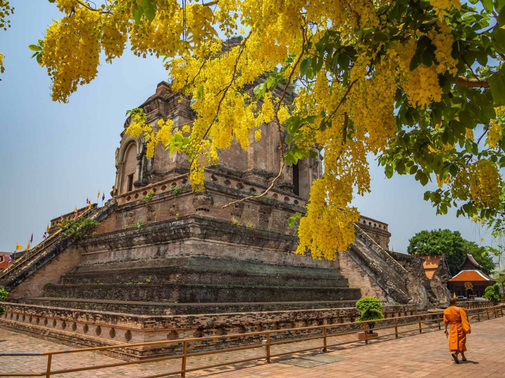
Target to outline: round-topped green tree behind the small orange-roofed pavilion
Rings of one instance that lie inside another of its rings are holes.
[[[467,254],[474,257],[475,261],[482,266],[481,270],[484,273],[491,274],[494,270],[493,260],[487,253],[486,247],[464,239],[459,231],[438,229],[418,232],[409,240],[407,252],[409,255],[419,256],[445,254],[452,275],[460,272],[458,267]]]

